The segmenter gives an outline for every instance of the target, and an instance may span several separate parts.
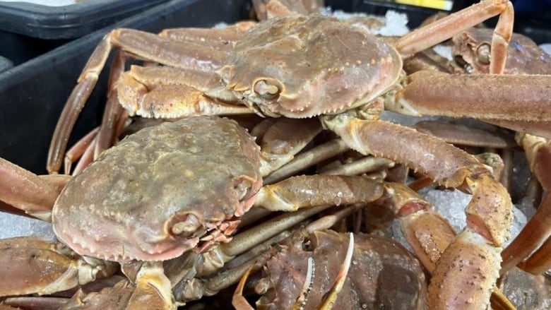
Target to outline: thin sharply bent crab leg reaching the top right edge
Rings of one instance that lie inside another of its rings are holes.
[[[490,73],[499,74],[504,70],[507,46],[513,33],[514,11],[513,5],[508,0],[486,0],[473,4],[409,32],[399,38],[394,46],[401,54],[415,54],[498,14],[499,20],[492,36]]]

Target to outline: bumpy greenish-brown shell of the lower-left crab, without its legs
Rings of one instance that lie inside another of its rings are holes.
[[[230,119],[143,129],[67,184],[52,211],[54,232],[78,254],[112,261],[204,251],[227,241],[251,207],[259,167],[258,145]]]

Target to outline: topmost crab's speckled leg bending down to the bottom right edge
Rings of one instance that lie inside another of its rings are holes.
[[[429,309],[485,306],[499,276],[500,246],[509,237],[513,219],[511,198],[504,187],[475,157],[438,138],[384,121],[350,120],[345,114],[324,122],[360,153],[390,157],[439,184],[473,194],[466,207],[466,229],[444,251],[434,269],[429,296],[439,298],[429,300]],[[463,268],[472,273],[466,277]],[[458,296],[459,287],[463,294]]]

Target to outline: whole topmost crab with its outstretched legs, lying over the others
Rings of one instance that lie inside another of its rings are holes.
[[[442,42],[497,14],[500,18],[492,37],[490,63],[490,73],[494,74],[450,76],[420,71],[402,76],[402,56]],[[120,78],[112,79],[116,82],[110,87],[111,94],[117,93],[130,114],[319,117],[349,148],[388,157],[439,184],[472,193],[473,200],[466,208],[468,227],[451,242],[434,270],[429,296],[440,298],[429,298],[429,308],[445,308],[456,300],[460,286],[465,292],[461,295],[463,303],[474,300],[481,304],[472,306],[480,308],[497,278],[500,258],[495,254],[509,235],[509,194],[475,157],[437,138],[377,121],[377,117],[384,105],[415,116],[550,121],[547,107],[551,96],[546,87],[550,76],[499,75],[505,64],[512,17],[509,1],[482,1],[391,43],[362,28],[316,14],[275,17],[248,30],[239,26],[182,29],[160,36],[114,30],[95,49],[68,100],[52,139],[48,169],[59,169],[64,153],[61,145],[67,141],[76,112],[97,81],[109,51],[119,47],[119,60],[136,57],[164,65],[133,66],[125,73],[112,71],[112,76]],[[170,33],[177,33],[180,39],[171,40]],[[227,38],[223,40],[227,44],[209,40],[212,37]],[[482,290],[466,285],[470,280],[452,271],[463,266],[461,261],[476,257],[487,258],[480,263],[495,271],[487,275]]]

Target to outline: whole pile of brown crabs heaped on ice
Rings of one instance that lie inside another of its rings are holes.
[[[320,1],[253,2],[259,22],[110,32],[61,114],[51,174],[0,160],[6,210],[57,236],[0,241],[0,309],[549,309],[551,60],[512,33],[511,3],[379,37]],[[432,53],[441,42],[455,61]],[[113,47],[102,124],[66,151]],[[410,128],[384,110],[471,120]],[[471,195],[466,227],[427,186]],[[504,248],[515,191],[537,210]]]

